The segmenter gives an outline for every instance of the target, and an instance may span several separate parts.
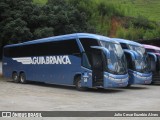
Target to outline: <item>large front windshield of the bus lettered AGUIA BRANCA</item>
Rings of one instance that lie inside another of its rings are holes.
[[[121,46],[117,43],[101,41],[103,47],[110,52],[110,59],[107,61],[107,69],[115,74],[127,72],[126,59]]]

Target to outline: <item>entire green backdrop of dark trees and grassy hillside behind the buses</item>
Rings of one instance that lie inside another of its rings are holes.
[[[1,0],[0,47],[75,32],[157,38],[159,5],[159,0]]]

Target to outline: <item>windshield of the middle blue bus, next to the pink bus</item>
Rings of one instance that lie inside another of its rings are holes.
[[[145,48],[135,46],[135,45],[129,45],[129,48],[131,50],[134,50],[138,53],[140,56],[140,59],[137,59],[135,61],[135,68],[139,72],[148,72],[150,70],[149,64],[148,64],[148,59],[147,59],[147,54],[145,51]]]

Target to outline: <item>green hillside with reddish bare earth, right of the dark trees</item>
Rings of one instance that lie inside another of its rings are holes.
[[[47,3],[48,0],[34,0]],[[60,0],[63,1],[63,0]],[[132,40],[160,37],[159,0],[64,0],[89,11],[96,33]],[[77,3],[76,3],[77,2]]]

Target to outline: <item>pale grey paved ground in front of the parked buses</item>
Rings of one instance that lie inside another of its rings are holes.
[[[80,92],[75,87],[34,82],[20,84],[0,77],[0,111],[160,111],[160,85],[133,85],[130,88],[90,89]],[[82,118],[30,118],[30,120],[44,119],[82,120]],[[117,118],[83,119],[117,120]],[[142,118],[118,119],[141,120]],[[152,120],[158,119],[152,118]]]

